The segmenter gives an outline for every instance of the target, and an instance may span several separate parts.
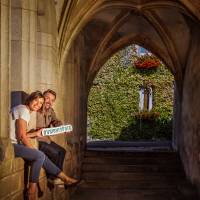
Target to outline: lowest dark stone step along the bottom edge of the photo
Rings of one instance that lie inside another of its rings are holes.
[[[121,184],[111,182],[112,187],[108,187],[108,183],[98,184],[85,182],[81,185],[73,195],[72,200],[198,200],[196,190],[187,181],[181,181],[174,185],[174,182],[168,184],[167,187],[162,184],[152,187],[149,185],[141,185],[140,188],[133,187],[134,182],[122,181]],[[95,187],[95,185],[97,187]],[[102,188],[103,185],[103,188]],[[124,187],[124,186],[129,187]],[[101,187],[99,187],[101,186]]]

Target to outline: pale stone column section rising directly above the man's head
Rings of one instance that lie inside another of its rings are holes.
[[[38,1],[36,88],[57,91],[58,51],[55,5],[52,0]],[[57,104],[56,104],[57,105]]]

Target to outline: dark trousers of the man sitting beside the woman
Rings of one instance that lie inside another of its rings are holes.
[[[65,159],[66,150],[55,142],[50,144],[46,142],[39,142],[39,150],[44,152],[45,155],[60,169],[63,169],[63,162]],[[47,173],[48,178],[55,178]]]

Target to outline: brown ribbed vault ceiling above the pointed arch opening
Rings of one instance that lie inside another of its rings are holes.
[[[71,1],[71,7],[65,5],[66,9],[68,5],[65,10],[68,18],[63,14],[60,19],[60,53],[62,59],[72,41],[80,33],[84,35],[84,67],[89,86],[107,59],[132,43],[144,46],[160,57],[175,79],[181,82],[190,52],[191,27],[194,22],[199,25],[198,0],[82,2]]]

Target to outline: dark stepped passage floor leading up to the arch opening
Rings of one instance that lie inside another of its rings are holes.
[[[82,166],[84,182],[72,200],[199,199],[169,143],[126,145],[88,145]]]

